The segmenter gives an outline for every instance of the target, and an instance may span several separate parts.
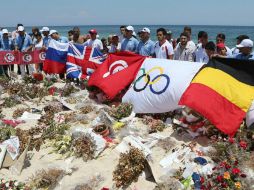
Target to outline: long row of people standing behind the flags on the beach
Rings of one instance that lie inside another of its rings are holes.
[[[216,42],[208,41],[205,31],[198,33],[198,44],[192,39],[191,27],[183,28],[179,38],[172,39],[172,32],[165,28],[156,31],[157,42],[150,39],[150,29],[145,27],[137,33],[133,26],[120,26],[120,35],[112,34],[108,38],[99,39],[96,29],[91,29],[88,34],[82,35],[79,27],[68,31],[68,38],[61,36],[58,31],[50,30],[48,27],[32,28],[27,33],[22,24],[18,24],[16,30],[9,32],[6,28],[0,31],[0,51],[22,51],[46,50],[49,41],[54,39],[62,43],[77,43],[89,47],[98,48],[104,54],[120,51],[130,51],[143,56],[161,59],[204,62],[207,63],[212,57],[225,57],[236,59],[254,59],[252,52],[253,41],[247,35],[236,38],[237,44],[233,49],[226,46],[226,36],[219,33]],[[14,71],[14,65],[0,65],[0,74],[8,75],[8,71]],[[24,76],[26,73],[41,72],[42,63],[36,65],[18,66],[18,74]]]

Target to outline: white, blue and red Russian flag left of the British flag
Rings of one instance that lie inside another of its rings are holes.
[[[60,43],[51,39],[46,52],[43,70],[49,74],[65,73],[68,48],[69,43]]]

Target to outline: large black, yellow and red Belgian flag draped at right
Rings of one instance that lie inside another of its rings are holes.
[[[216,58],[192,80],[179,104],[233,136],[254,99],[254,61]]]

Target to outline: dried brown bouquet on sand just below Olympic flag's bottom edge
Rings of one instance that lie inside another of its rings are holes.
[[[157,131],[163,131],[165,124],[159,119],[154,119],[150,116],[144,116],[143,123],[148,125],[149,133],[156,133]]]

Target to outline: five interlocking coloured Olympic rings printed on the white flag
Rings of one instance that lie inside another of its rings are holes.
[[[154,79],[151,80],[151,76],[149,75],[149,73],[151,73],[153,70],[156,70],[156,69],[160,70],[160,74],[157,75]],[[152,93],[154,93],[154,94],[157,94],[157,95],[160,95],[160,94],[164,93],[167,90],[167,88],[169,86],[169,83],[170,83],[170,78],[169,78],[168,75],[163,74],[163,68],[161,68],[161,67],[153,67],[147,73],[145,72],[144,68],[141,68],[140,70],[143,72],[143,74],[141,76],[139,76],[137,78],[137,80],[134,82],[134,85],[133,85],[133,90],[134,91],[141,92],[141,91],[145,90],[148,85],[149,85],[150,91]],[[145,85],[142,88],[137,88],[137,83],[140,80],[142,80],[142,78],[144,78],[144,77],[145,77],[145,79],[144,79],[145,80]],[[153,85],[156,84],[163,77],[167,80],[166,85],[164,86],[164,88],[162,90],[155,91]]]

